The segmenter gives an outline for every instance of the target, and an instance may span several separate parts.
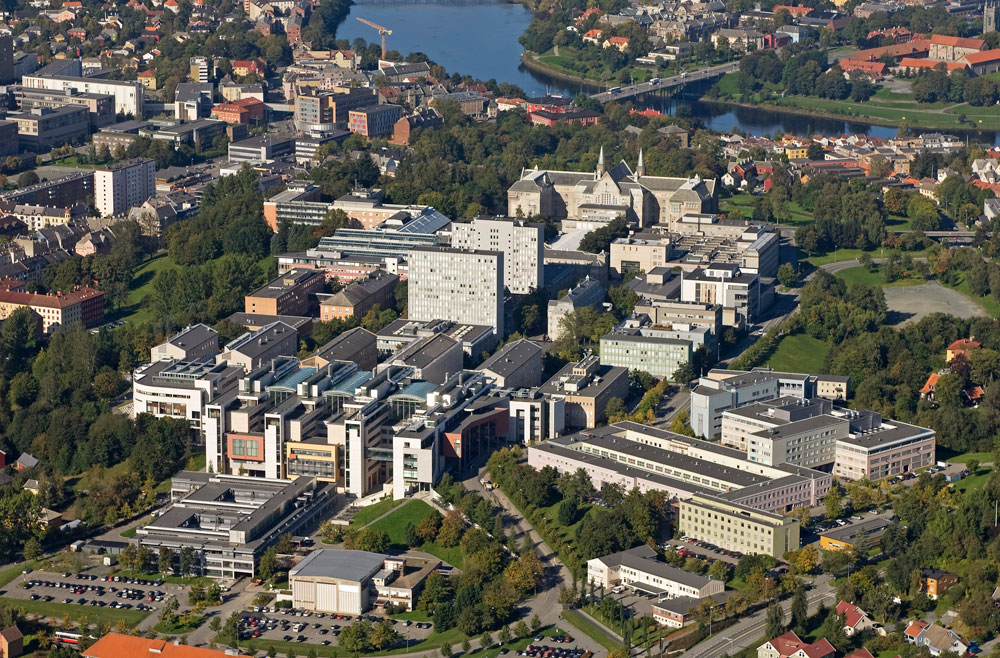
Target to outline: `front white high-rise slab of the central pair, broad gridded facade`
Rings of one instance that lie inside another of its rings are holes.
[[[502,251],[415,247],[407,289],[412,319],[485,325],[504,335]]]

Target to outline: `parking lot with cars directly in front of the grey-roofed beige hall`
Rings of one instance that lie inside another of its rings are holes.
[[[261,608],[256,612],[244,612],[240,624],[243,640],[276,640],[279,642],[299,642],[336,645],[337,636],[351,624],[365,619],[379,623],[386,617],[380,615],[336,615],[307,610]],[[429,621],[413,622],[389,618],[404,642],[416,643],[427,639],[433,630]]]

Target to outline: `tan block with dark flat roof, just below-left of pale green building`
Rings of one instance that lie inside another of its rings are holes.
[[[565,400],[566,426],[597,427],[607,418],[611,398],[628,397],[628,370],[602,366],[598,357],[588,355],[566,364],[539,390]]]

